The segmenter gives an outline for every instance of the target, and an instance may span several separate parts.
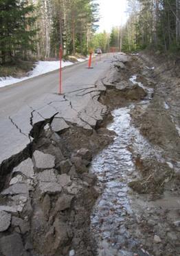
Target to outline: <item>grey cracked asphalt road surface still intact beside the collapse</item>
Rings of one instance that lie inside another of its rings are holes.
[[[102,78],[113,56],[87,69],[87,61],[63,70],[63,95],[58,95],[58,70],[0,88],[0,164],[30,144],[30,130],[39,121],[56,115],[86,129],[95,127],[106,113],[98,102],[106,90]]]

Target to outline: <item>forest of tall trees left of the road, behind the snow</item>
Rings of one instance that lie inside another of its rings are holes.
[[[1,0],[1,63],[19,59],[86,55],[98,21],[93,0]]]

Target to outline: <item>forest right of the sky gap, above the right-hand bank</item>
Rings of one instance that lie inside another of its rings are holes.
[[[160,52],[180,50],[179,0],[128,0],[125,26],[94,35],[93,43],[107,49],[132,52],[145,48]],[[98,42],[98,43],[97,43]]]

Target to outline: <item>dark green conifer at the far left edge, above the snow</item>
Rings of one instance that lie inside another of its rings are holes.
[[[30,14],[32,5],[22,0],[0,1],[0,51],[1,62],[11,61],[17,55],[26,55],[27,50],[34,50],[32,40],[36,31],[32,30],[35,21]]]

